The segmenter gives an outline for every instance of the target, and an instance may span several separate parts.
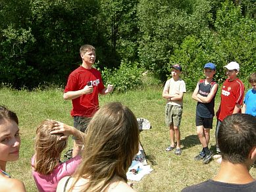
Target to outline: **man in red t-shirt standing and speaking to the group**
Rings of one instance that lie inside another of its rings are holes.
[[[104,87],[101,73],[92,67],[95,62],[95,48],[93,46],[83,45],[80,47],[80,56],[82,65],[68,76],[63,98],[72,100],[70,114],[74,117],[74,127],[84,132],[87,127],[86,122],[99,109],[98,94],[110,93],[113,91],[113,85]],[[73,139],[75,142],[72,156],[76,156],[82,146],[76,142],[76,137]]]

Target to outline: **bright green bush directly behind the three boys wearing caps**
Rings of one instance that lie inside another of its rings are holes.
[[[241,7],[225,1],[217,11],[215,32],[206,30],[200,36],[187,36],[182,44],[174,49],[170,64],[180,63],[182,78],[188,91],[193,91],[199,78],[203,78],[203,65],[213,62],[217,65],[215,80],[222,84],[226,79],[223,66],[236,61],[240,64],[239,78],[247,82],[247,77],[256,71],[256,22],[243,17]],[[168,73],[170,74],[170,72]]]

